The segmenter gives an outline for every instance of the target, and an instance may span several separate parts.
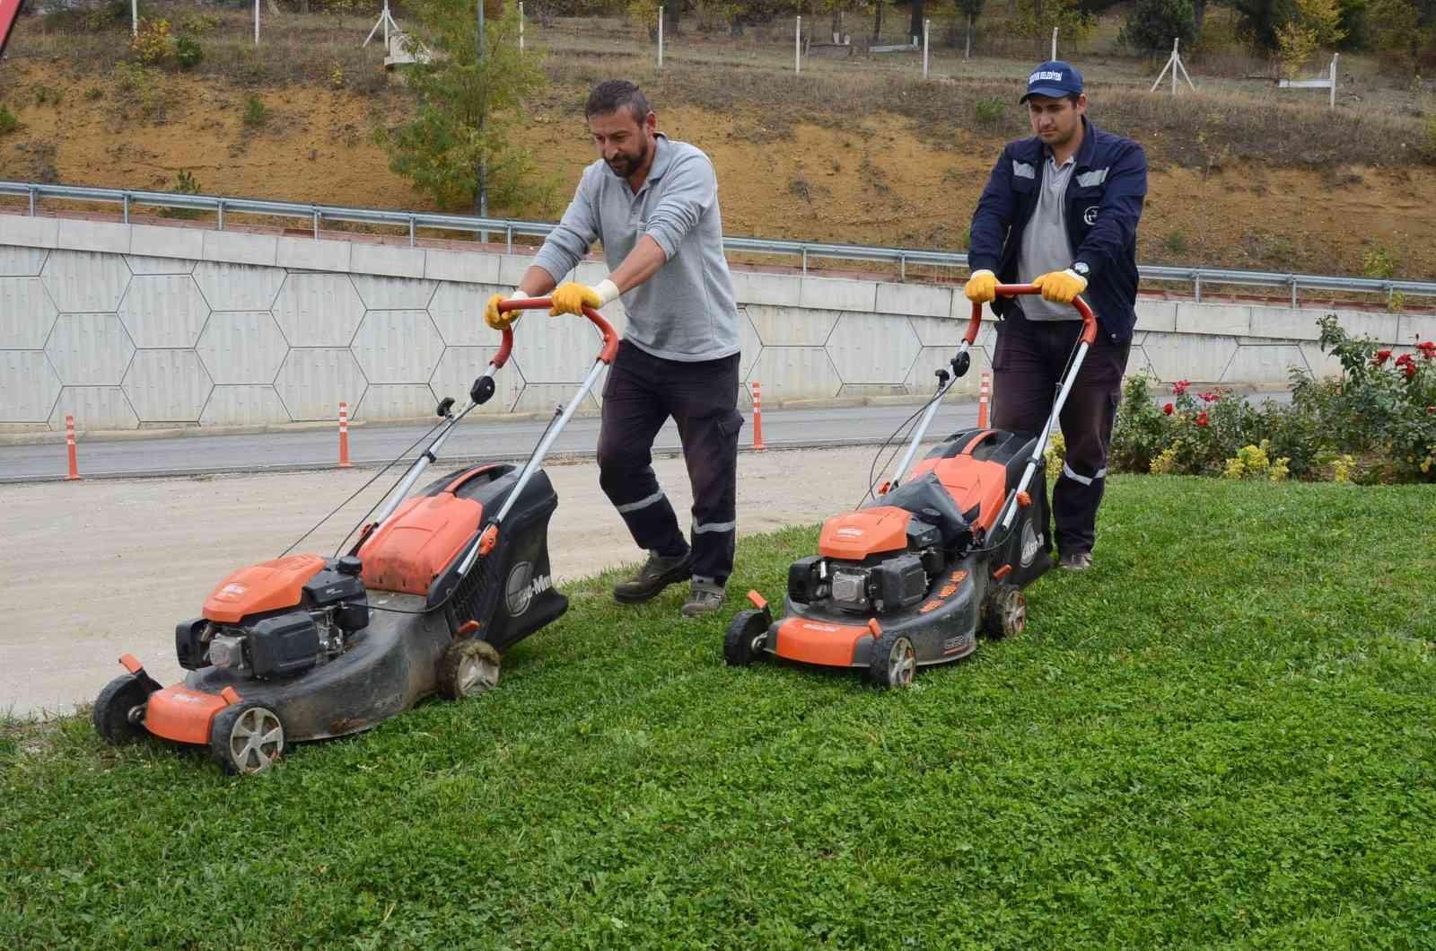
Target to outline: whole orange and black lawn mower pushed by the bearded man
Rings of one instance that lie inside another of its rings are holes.
[[[501,312],[549,306],[547,297],[498,305]],[[438,405],[442,421],[414,445],[435,431],[437,438],[383,496],[383,507],[375,506],[378,514],[360,520],[348,553],[286,550],[231,573],[201,616],[175,629],[175,654],[190,671],[184,682],[161,687],[123,655],[128,672],[95,701],[95,730],[111,743],[149,733],[208,746],[227,771],[257,773],[292,741],[368,730],[428,694],[458,700],[491,688],[501,654],[569,608],[549,567],[549,517],[559,497],[538,467],[617,351],[609,322],[589,307],[584,316],[602,349],[521,468],[465,467],[408,497],[454,427],[494,395],[494,374],[514,345],[505,328],[468,407],[455,415],[452,398]]]

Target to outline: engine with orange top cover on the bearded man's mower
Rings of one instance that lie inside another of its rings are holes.
[[[339,657],[349,635],[369,625],[360,567],[353,556],[326,562],[300,555],[236,572],[205,600],[204,618],[175,628],[180,665],[279,679]],[[258,572],[267,572],[261,580],[277,576],[281,583],[254,585]],[[260,611],[247,611],[251,608]]]

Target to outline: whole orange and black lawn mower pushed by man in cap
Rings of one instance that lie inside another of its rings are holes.
[[[1001,296],[1032,284],[999,284]],[[724,658],[744,667],[761,657],[866,669],[877,687],[908,687],[919,667],[958,661],[976,634],[1012,636],[1027,625],[1022,589],[1051,566],[1044,450],[1061,415],[1097,320],[1080,297],[1081,335],[1057,401],[1038,434],[964,430],[918,454],[942,398],[971,365],[982,305],[892,478],[853,511],[823,523],[819,553],[788,567],[784,618],[758,592],[724,636]],[[882,450],[879,450],[880,453]]]

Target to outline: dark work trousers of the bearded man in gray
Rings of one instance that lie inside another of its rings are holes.
[[[672,417],[694,490],[694,577],[732,573],[738,514],[738,355],[686,363],[619,345],[603,385],[599,484],[639,547],[663,557],[689,543],[653,474],[653,437]]]

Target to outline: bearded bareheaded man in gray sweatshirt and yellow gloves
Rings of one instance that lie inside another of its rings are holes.
[[[584,106],[599,161],[583,170],[559,227],[514,297],[553,299],[551,315],[582,313],[622,296],[628,330],[603,386],[599,484],[639,547],[643,567],[613,589],[636,603],[692,577],[682,612],[717,611],[732,573],[738,476],[738,309],[722,253],[712,162],[658,132],[658,116],[630,82],[612,79]],[[559,284],[603,243],[609,276],[595,287]],[[556,287],[557,284],[557,287]],[[500,329],[518,312],[484,313]],[[694,490],[692,542],[652,467],[653,437],[672,417]]]

